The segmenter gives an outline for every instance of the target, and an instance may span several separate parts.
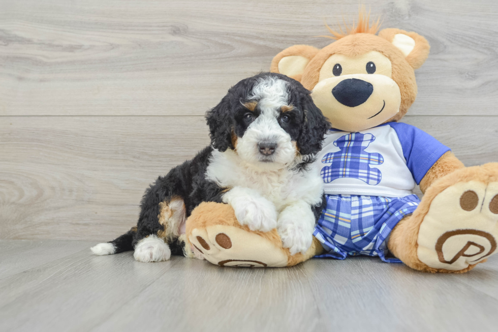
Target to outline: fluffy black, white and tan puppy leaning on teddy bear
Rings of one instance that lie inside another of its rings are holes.
[[[160,176],[141,202],[136,227],[91,250],[134,250],[142,262],[182,254],[185,220],[201,202],[230,204],[251,230],[276,228],[292,255],[312,244],[323,181],[314,169],[329,123],[309,91],[281,74],[263,73],[235,84],[207,112],[211,145]]]

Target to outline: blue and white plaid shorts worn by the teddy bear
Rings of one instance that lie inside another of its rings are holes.
[[[403,217],[415,211],[420,202],[417,195],[326,195],[326,199],[327,207],[313,233],[326,253],[315,257],[342,260],[348,255],[367,255],[379,256],[384,262],[401,262],[386,258],[386,239]]]

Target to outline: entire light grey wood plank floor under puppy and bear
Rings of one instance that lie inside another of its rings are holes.
[[[498,257],[464,275],[353,257],[246,269],[0,240],[1,331],[494,331]]]

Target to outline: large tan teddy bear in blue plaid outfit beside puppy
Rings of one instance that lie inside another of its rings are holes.
[[[378,30],[379,21],[370,25],[361,12],[345,32],[330,30],[328,46],[294,45],[271,63],[272,72],[311,90],[332,124],[316,161],[327,206],[308,251],[292,256],[276,230],[251,231],[230,205],[202,203],[186,222],[191,256],[264,267],[369,255],[463,273],[496,253],[498,163],[465,167],[450,148],[398,122],[415,101],[414,70],[429,44],[414,32]]]

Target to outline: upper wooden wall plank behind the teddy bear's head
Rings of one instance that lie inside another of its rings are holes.
[[[498,2],[363,1],[431,44],[412,115],[496,115]],[[201,115],[348,0],[0,1],[0,115]]]

